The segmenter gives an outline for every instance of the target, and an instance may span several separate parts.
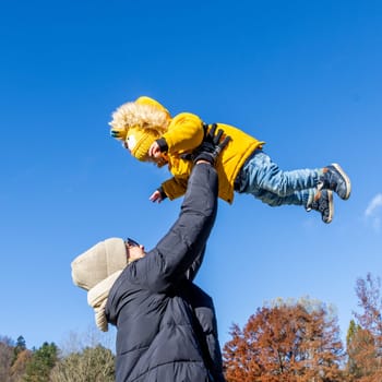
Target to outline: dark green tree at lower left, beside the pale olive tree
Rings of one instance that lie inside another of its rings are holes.
[[[25,382],[49,382],[49,374],[58,359],[58,347],[51,343],[44,343],[35,350],[26,365]]]

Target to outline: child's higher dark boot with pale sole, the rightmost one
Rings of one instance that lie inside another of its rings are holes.
[[[337,164],[332,164],[323,168],[320,176],[318,190],[332,190],[343,200],[350,196],[351,183],[349,177]]]

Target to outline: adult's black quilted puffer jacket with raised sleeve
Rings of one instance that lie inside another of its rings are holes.
[[[212,299],[184,277],[216,208],[216,171],[196,165],[177,222],[112,286],[106,315],[117,325],[117,382],[224,381]]]

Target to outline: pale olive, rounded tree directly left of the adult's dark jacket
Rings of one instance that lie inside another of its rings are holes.
[[[115,357],[102,345],[86,347],[61,359],[50,374],[51,382],[114,382]]]

